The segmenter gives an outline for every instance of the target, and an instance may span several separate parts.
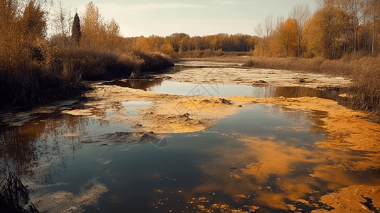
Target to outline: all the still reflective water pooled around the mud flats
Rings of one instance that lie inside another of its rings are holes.
[[[192,87],[169,81],[134,86],[169,94],[185,94]],[[214,96],[325,95],[305,88],[220,88]],[[136,115],[136,109],[151,102],[121,104]],[[112,116],[111,108],[104,110]],[[173,133],[165,138],[170,138],[168,146],[158,147],[154,140],[118,138],[135,128],[126,124],[59,111],[38,114],[25,124],[0,129],[0,171],[20,175],[33,195],[64,191],[79,196],[89,181],[102,183],[108,191],[97,207],[84,207],[85,212],[249,212],[257,207],[256,212],[289,212],[287,205],[300,212],[315,209],[297,200],[328,209],[317,202],[321,195],[348,185],[379,185],[380,170],[335,166],[339,159],[360,161],[367,153],[317,148],[328,136],[320,127],[325,116],[322,111],[251,104],[205,131]],[[313,178],[315,173],[321,176]]]

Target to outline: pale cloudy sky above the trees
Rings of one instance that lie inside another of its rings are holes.
[[[254,27],[267,15],[288,17],[291,9],[308,4],[315,11],[314,0],[109,0],[92,1],[104,20],[115,19],[124,37],[187,33],[214,35],[217,33],[255,35]],[[63,0],[65,8],[81,15],[89,0]]]

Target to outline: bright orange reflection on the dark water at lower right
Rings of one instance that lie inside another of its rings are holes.
[[[252,206],[259,206],[261,210],[266,209],[270,212],[282,212],[281,209],[283,212],[289,209],[293,211],[303,209],[302,211],[310,212],[317,208],[328,208],[318,202],[319,197],[326,192],[350,185],[380,185],[379,175],[374,175],[379,173],[377,170],[379,166],[376,163],[369,163],[369,161],[376,162],[377,155],[367,155],[366,151],[343,152],[307,146],[308,141],[303,140],[302,131],[316,133],[314,136],[313,134],[309,136],[311,140],[327,139],[317,136],[324,134],[320,129],[314,131],[323,114],[310,114],[310,117],[304,121],[298,120],[296,124],[297,119],[293,117],[295,114],[298,114],[296,116],[298,118],[303,117],[302,111],[288,110],[285,114],[284,111],[278,113],[273,108],[271,111],[275,111],[272,116],[291,121],[287,124],[290,128],[281,131],[290,131],[294,127],[298,129],[297,126],[304,128],[293,132],[293,137],[288,138],[281,136],[283,134],[281,132],[268,134],[259,129],[259,132],[264,133],[259,136],[260,133],[257,131],[249,132],[244,129],[241,131],[241,128],[238,128],[237,133],[229,129],[230,133],[224,136],[227,136],[225,140],[230,141],[231,145],[212,146],[203,150],[210,155],[215,153],[220,155],[200,165],[203,173],[212,178],[206,179],[188,192],[190,194],[188,200],[195,197],[195,202],[190,204],[188,209],[195,206],[201,210],[200,212],[207,212],[217,209],[213,204],[222,203],[229,204],[230,210],[244,206],[246,212],[249,212]],[[237,115],[239,114],[241,112]],[[248,118],[244,121],[242,118],[246,116]],[[249,121],[253,119],[246,113],[242,113],[238,118],[240,125],[249,126],[248,129],[254,130],[263,125],[252,126],[253,123]],[[212,129],[225,128],[225,120],[219,121]],[[310,121],[315,124],[308,125]],[[266,123],[271,124],[273,121],[268,119]],[[282,126],[281,122],[277,121],[276,124]],[[265,129],[270,128],[268,124],[265,125]],[[356,166],[357,163],[361,166]],[[225,197],[226,195],[228,196]],[[207,202],[197,201],[200,197],[206,197]],[[202,205],[202,208],[199,208],[199,205]]]

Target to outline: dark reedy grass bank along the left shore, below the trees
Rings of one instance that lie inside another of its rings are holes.
[[[41,61],[0,67],[0,108],[3,104],[33,106],[75,97],[91,89],[85,80],[138,77],[139,72],[173,65],[162,53],[139,50],[116,52],[67,48],[51,53],[43,50]]]

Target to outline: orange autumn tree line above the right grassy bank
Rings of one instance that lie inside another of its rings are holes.
[[[314,13],[295,6],[284,18],[271,15],[255,27],[254,55],[342,58],[379,52],[379,0],[318,0]]]

